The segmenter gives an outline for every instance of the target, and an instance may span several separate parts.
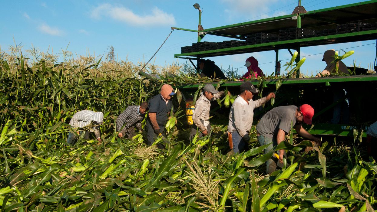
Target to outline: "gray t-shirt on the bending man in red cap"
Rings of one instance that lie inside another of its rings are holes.
[[[296,110],[294,105],[280,106],[268,111],[257,124],[256,130],[264,137],[273,138],[277,136],[279,129],[285,134],[296,124]]]

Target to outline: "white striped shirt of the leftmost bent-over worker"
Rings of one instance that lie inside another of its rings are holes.
[[[103,122],[103,113],[91,110],[81,110],[72,116],[69,122],[74,128],[82,128],[88,126],[92,121]]]

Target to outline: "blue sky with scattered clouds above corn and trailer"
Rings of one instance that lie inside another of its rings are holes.
[[[341,3],[340,3],[341,2]],[[307,11],[356,3],[356,0],[302,0]],[[206,28],[224,26],[267,17],[291,14],[297,0],[135,0],[135,1],[5,1],[0,9],[0,45],[8,50],[9,45],[23,44],[23,52],[32,45],[41,51],[52,50],[58,53],[66,49],[77,55],[106,54],[112,45],[118,59],[147,61],[170,32],[170,27],[197,29],[198,11],[193,8],[199,3],[204,9],[202,26]],[[172,63],[185,63],[185,59],[175,59],[181,46],[196,42],[195,32],[175,30],[159,53],[153,59],[159,66]],[[202,41],[223,41],[228,38],[206,35]],[[355,54],[344,60],[346,65],[353,61],[358,66],[373,66],[375,40],[326,46],[305,47],[301,55],[307,56],[302,72],[323,70],[321,61],[327,49],[355,50]],[[363,46],[365,45],[365,46]],[[361,46],[361,47],[357,47]],[[348,49],[350,48],[350,49]],[[246,72],[242,67],[245,59],[254,56],[261,69],[269,74],[274,71],[274,52],[258,52],[209,58],[223,69],[234,68]],[[289,59],[287,50],[279,51],[279,59]],[[283,63],[285,63],[283,61]]]

